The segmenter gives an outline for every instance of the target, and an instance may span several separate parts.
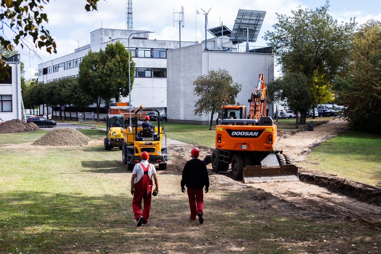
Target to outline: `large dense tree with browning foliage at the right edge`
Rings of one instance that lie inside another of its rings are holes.
[[[379,134],[381,126],[381,22],[362,24],[354,38],[349,72],[336,76],[336,101],[356,131]]]

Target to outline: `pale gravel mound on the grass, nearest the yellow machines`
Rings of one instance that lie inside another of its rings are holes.
[[[37,139],[32,145],[86,145],[91,138],[70,128],[54,129]]]

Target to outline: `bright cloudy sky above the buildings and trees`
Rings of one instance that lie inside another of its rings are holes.
[[[203,13],[201,8],[210,12],[208,15],[208,29],[219,26],[221,22],[229,29],[233,28],[234,20],[239,9],[266,11],[266,16],[255,43],[250,46],[266,46],[261,38],[264,32],[272,30],[272,25],[277,22],[275,13],[290,14],[291,10],[301,8],[316,8],[324,5],[323,0],[166,0],[147,1],[132,0],[133,2],[133,29],[149,30],[150,39],[178,40],[179,24],[173,22],[179,19],[179,14],[184,6],[185,27],[181,28],[182,41],[199,41],[205,39],[205,16],[196,14],[196,10]],[[345,2],[345,4],[344,4]],[[90,43],[90,32],[101,27],[107,29],[126,29],[126,0],[100,0],[98,11],[86,12],[86,0],[50,0],[45,5],[44,11],[48,14],[49,22],[45,24],[52,37],[56,40],[57,54],[49,54],[38,50],[40,59],[29,50],[20,46],[17,50],[21,53],[21,60],[25,63],[25,77],[34,77],[37,65],[70,53],[74,49]],[[381,21],[381,4],[373,0],[332,0],[330,1],[329,13],[338,21],[349,22],[350,18],[356,17],[359,24],[368,19]],[[209,32],[208,38],[213,37]],[[245,46],[245,43],[242,44]],[[278,69],[278,68],[277,68]],[[275,76],[279,74],[275,73]]]

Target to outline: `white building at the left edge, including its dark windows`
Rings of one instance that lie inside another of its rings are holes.
[[[0,81],[0,118],[3,121],[21,120],[21,68],[20,55],[2,57],[11,68],[10,76]]]

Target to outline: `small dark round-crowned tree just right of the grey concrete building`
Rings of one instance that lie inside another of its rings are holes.
[[[268,84],[267,89],[271,101],[282,101],[282,106],[293,110],[296,115],[311,105],[311,90],[302,73],[288,72],[284,77],[276,78]],[[296,117],[295,128],[299,128],[299,117]]]

